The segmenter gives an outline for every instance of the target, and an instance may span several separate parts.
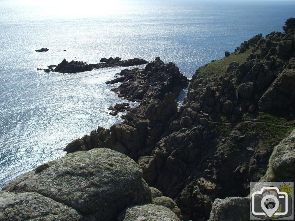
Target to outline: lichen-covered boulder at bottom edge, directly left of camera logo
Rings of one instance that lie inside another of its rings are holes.
[[[250,220],[250,198],[229,197],[215,199],[210,221],[248,221]]]

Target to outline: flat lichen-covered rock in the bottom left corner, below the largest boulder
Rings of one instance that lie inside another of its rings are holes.
[[[75,209],[38,193],[0,192],[0,220],[82,221]]]

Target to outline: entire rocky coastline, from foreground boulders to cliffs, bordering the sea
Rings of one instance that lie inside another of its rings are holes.
[[[250,220],[251,181],[295,178],[295,19],[283,30],[199,68],[180,109],[189,80],[174,63],[121,71],[106,84],[140,105],[117,105],[122,123],[6,184],[0,219],[28,219],[43,201],[32,220]],[[70,63],[55,70],[92,67]]]

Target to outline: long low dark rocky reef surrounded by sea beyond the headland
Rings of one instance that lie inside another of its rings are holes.
[[[133,58],[129,60],[121,60],[121,58],[101,58],[100,60],[103,63],[97,63],[97,64],[87,64],[83,61],[66,61],[63,59],[61,63],[59,63],[57,66],[51,65],[51,68],[49,67],[48,71],[55,71],[59,73],[78,73],[78,72],[84,72],[84,71],[91,71],[94,68],[108,68],[108,67],[129,67],[129,66],[136,66],[136,65],[142,65],[148,63],[148,61],[140,59],[140,58]],[[55,67],[54,67],[55,66]],[[47,70],[47,69],[46,69]]]

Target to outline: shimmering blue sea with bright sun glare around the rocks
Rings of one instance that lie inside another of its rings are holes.
[[[123,68],[72,74],[37,68],[63,58],[97,63],[160,56],[190,78],[253,35],[282,31],[294,9],[295,1],[1,0],[0,189],[63,156],[73,139],[121,122],[106,112],[124,99],[105,81]],[[35,52],[40,48],[49,51]]]

